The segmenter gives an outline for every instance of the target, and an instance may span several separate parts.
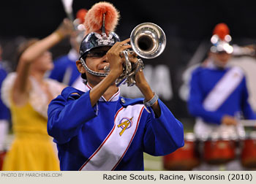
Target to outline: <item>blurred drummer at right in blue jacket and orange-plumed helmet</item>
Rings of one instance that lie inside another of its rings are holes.
[[[248,102],[244,72],[229,65],[233,53],[230,41],[227,25],[217,24],[208,58],[192,73],[188,107],[191,115],[197,118],[194,131],[201,139],[226,140],[243,136],[244,127],[239,119],[256,119]],[[206,147],[204,149],[206,158]],[[225,151],[221,154],[225,156]]]

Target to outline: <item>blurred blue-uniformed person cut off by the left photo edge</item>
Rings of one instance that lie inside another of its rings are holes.
[[[7,77],[7,70],[2,63],[2,47],[0,45],[0,96],[1,96],[1,85]],[[10,110],[6,107],[3,101],[0,98],[0,171],[2,168],[3,158],[5,155],[6,147],[5,147],[5,139],[8,134],[9,129],[9,122],[10,122]]]

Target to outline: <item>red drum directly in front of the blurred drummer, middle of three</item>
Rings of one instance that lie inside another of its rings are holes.
[[[236,158],[236,136],[213,133],[203,143],[203,158],[208,164],[225,164]]]

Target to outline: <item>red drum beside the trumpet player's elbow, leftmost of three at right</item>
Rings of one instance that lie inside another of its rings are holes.
[[[184,147],[173,153],[163,156],[163,164],[166,170],[188,171],[200,164],[197,140],[193,133],[184,136]]]

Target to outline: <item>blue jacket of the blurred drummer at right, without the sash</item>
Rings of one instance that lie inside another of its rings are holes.
[[[212,91],[214,86],[230,69],[230,67],[217,69],[199,66],[192,72],[188,103],[189,112],[192,115],[203,118],[205,122],[215,124],[221,124],[223,115],[236,117],[238,112],[243,112],[246,119],[256,119],[255,112],[252,111],[252,107],[248,102],[249,95],[245,76],[217,110],[208,111],[203,107],[203,101],[208,96],[208,93]]]

